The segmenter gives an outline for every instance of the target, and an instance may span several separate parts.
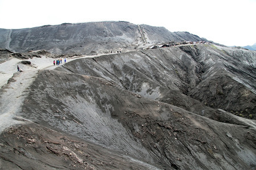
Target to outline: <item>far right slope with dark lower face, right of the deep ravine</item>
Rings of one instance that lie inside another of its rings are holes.
[[[196,53],[191,54],[204,73],[202,82],[189,91],[189,96],[209,107],[255,119],[256,53],[216,47],[196,47]],[[187,46],[181,49],[193,51]]]

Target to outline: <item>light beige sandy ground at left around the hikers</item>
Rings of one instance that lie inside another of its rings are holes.
[[[77,58],[87,57],[95,56],[72,57],[68,58],[67,62]],[[38,73],[39,70],[52,70],[57,67],[53,66],[53,60],[54,58],[46,56],[43,56],[42,58],[34,57],[28,59],[28,61],[31,62],[31,65],[23,65],[20,63],[22,59],[13,58],[0,64],[0,86],[2,88],[0,98],[0,132],[13,124],[24,123],[24,118],[16,117],[15,115],[20,112],[20,105],[22,105],[27,93],[26,88],[28,88],[34,78],[36,78],[36,73]],[[61,65],[64,64],[63,59]],[[23,71],[18,72],[17,66]],[[10,83],[8,83],[9,79]]]

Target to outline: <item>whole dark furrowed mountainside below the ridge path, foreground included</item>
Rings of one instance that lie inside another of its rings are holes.
[[[17,115],[31,123],[1,134],[2,167],[254,169],[256,122],[234,114],[255,119],[255,57],[185,45],[41,70]]]

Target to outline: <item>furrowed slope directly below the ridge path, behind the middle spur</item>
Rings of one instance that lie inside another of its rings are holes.
[[[197,114],[207,114],[207,105],[255,119],[255,58],[247,50],[185,45],[86,58],[58,70],[108,79]]]

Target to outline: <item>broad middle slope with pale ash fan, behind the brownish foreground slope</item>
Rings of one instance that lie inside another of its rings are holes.
[[[108,80],[62,71],[41,71],[30,91],[20,116],[160,169],[255,167],[250,125],[212,121]]]

